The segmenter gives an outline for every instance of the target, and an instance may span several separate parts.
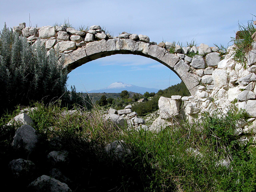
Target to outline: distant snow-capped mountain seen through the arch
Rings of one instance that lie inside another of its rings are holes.
[[[158,92],[158,89],[154,89],[154,88],[146,88],[146,87],[139,87],[139,86],[135,86],[132,84],[126,84],[123,82],[115,82],[110,84],[110,86],[103,88],[103,89],[99,89],[99,90],[91,90],[88,91],[88,93],[120,93],[123,90],[127,90],[127,91],[131,91],[131,92],[136,92],[136,93],[141,93],[144,94],[145,92]]]

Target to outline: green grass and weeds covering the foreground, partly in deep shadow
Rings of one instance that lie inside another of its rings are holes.
[[[256,148],[252,140],[246,146],[239,145],[235,124],[246,116],[236,109],[221,116],[205,113],[200,122],[176,123],[154,133],[116,129],[97,109],[63,116],[66,109],[58,105],[36,103],[35,107],[30,116],[41,144],[34,155],[23,157],[12,149],[16,127],[4,126],[11,116],[0,119],[2,165],[20,157],[32,160],[37,177],[51,169],[45,163],[49,152],[67,150],[70,161],[59,168],[76,192],[256,190]],[[56,138],[59,144],[52,145]],[[123,160],[108,156],[104,146],[115,140],[126,142],[133,155]],[[229,166],[222,166],[222,160]],[[26,190],[27,183],[12,178],[8,166],[3,166],[2,176],[2,188]]]

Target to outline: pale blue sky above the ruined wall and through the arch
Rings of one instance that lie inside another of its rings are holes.
[[[100,25],[113,36],[126,31],[154,42],[228,45],[238,22],[256,20],[255,0],[0,0],[0,29],[20,22],[26,26],[64,23],[74,28]],[[30,22],[29,24],[29,14]],[[229,43],[231,45],[231,43]],[[167,88],[180,79],[162,64],[142,56],[114,55],[84,64],[69,74],[68,85],[78,91],[101,89],[114,82]]]

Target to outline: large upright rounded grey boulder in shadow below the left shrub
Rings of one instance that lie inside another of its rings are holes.
[[[38,136],[36,130],[29,125],[22,125],[19,127],[14,135],[12,146],[16,150],[24,150],[31,153],[38,144]]]

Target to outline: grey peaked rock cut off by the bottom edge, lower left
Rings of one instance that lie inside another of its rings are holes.
[[[32,191],[37,192],[72,192],[67,184],[60,182],[50,176],[42,175],[29,184]]]

